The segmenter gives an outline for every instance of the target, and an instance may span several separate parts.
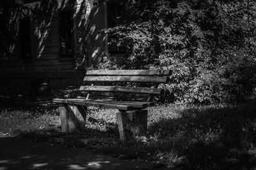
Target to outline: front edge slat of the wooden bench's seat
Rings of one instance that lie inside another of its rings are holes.
[[[96,106],[100,108],[116,108],[118,110],[132,110],[132,106],[125,104],[100,103],[86,99],[53,99],[54,103],[75,104],[82,106]]]

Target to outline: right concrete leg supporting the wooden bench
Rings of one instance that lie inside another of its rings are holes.
[[[119,111],[116,118],[121,140],[147,133],[147,110]]]

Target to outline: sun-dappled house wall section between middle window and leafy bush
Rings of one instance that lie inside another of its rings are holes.
[[[102,57],[108,55],[108,39],[100,34],[108,27],[106,1],[97,6],[94,0],[77,0],[77,67],[97,66]],[[81,8],[84,6],[84,8]],[[83,12],[79,9],[84,9]]]

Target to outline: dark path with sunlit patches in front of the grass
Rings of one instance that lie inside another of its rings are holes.
[[[3,137],[3,136],[2,136]],[[142,161],[119,160],[83,148],[33,139],[0,138],[0,170],[8,169],[168,169]]]

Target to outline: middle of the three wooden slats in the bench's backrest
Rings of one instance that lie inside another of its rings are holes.
[[[85,76],[86,82],[144,82],[168,83],[168,77],[156,76]]]

